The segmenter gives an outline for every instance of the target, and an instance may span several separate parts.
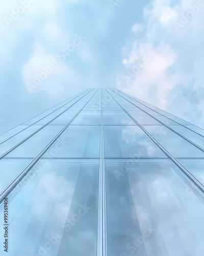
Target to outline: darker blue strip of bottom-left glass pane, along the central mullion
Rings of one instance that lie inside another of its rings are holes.
[[[58,256],[66,254],[84,256],[85,252],[90,256],[96,255],[97,202],[98,166],[82,166]],[[82,212],[81,217],[78,214],[79,211]],[[73,227],[70,221],[72,221]],[[74,221],[77,223],[75,224]]]

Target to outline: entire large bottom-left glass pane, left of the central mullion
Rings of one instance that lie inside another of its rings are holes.
[[[9,255],[95,255],[97,177],[98,165],[49,161],[19,184],[9,197]]]

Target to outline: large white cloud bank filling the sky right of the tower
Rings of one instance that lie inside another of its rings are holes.
[[[197,125],[204,125],[201,119],[204,101],[196,98],[194,86],[196,83],[196,88],[202,88],[204,79],[201,44],[204,7],[195,7],[198,2],[182,0],[172,5],[170,0],[155,0],[144,8],[145,35],[133,42],[132,51],[128,55],[125,53],[123,64],[125,70],[130,69],[145,53],[151,55],[151,60],[124,90]],[[187,24],[176,31],[174,23],[181,23],[183,16],[188,17],[188,11],[193,12],[192,6],[197,13],[194,12]],[[193,109],[191,113],[181,108],[179,98]],[[195,111],[199,113],[197,120]]]

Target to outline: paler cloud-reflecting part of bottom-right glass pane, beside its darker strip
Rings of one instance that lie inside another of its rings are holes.
[[[147,256],[174,256],[178,251],[182,256],[201,256],[204,205],[197,190],[188,187],[165,163],[138,163],[135,167],[126,173],[140,227],[149,230],[148,239],[141,240]],[[184,200],[185,191],[191,191],[191,196]]]

